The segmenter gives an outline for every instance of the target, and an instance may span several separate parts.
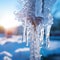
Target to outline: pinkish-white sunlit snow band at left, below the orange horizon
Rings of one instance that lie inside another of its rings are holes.
[[[4,45],[7,42],[17,42],[17,43],[22,43],[22,37],[21,36],[12,36],[11,38],[0,38],[0,45]]]

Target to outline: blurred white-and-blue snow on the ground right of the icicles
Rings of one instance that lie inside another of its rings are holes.
[[[60,54],[60,41],[50,41],[49,48],[42,48],[41,54],[48,56],[50,54]]]

